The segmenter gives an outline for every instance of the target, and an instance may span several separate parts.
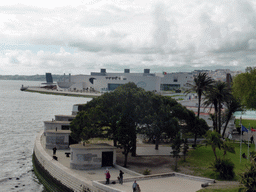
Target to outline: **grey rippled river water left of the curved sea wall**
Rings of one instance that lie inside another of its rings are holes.
[[[74,104],[90,98],[20,91],[21,85],[38,81],[0,81],[0,191],[44,191],[32,171],[36,134],[43,121],[54,115],[70,115]]]

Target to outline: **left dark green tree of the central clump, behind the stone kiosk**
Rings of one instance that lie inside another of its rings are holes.
[[[140,111],[142,110],[140,107],[140,98],[144,93],[145,90],[138,88],[134,83],[127,83],[119,86],[111,93],[105,93],[98,98],[94,98],[82,107],[81,115],[79,113],[74,123],[72,123],[72,127],[74,127],[72,130],[77,132],[72,133],[72,135],[78,135],[75,136],[74,139],[77,140],[79,136],[82,136],[82,133],[88,131],[90,127],[89,123],[94,125],[94,123],[97,122],[97,126],[101,127],[101,129],[98,130],[101,130],[102,134],[104,133],[108,138],[113,139],[115,146],[120,146],[120,143],[123,143],[123,140],[120,140],[120,133],[122,133],[120,129],[125,127],[125,122],[128,122],[125,121],[125,119],[129,119],[129,125],[127,125],[127,127],[130,130],[129,138],[133,146],[131,151],[132,155],[136,156],[136,133],[141,116]],[[88,123],[86,123],[86,116],[82,115],[85,114],[84,111],[86,111],[87,115],[92,115],[90,113],[95,110],[97,110],[100,115],[97,115],[97,119],[93,118],[95,122],[88,121]],[[122,124],[120,124],[120,122],[122,122]],[[84,126],[84,123],[86,123],[87,126]],[[75,129],[75,127],[79,129]]]

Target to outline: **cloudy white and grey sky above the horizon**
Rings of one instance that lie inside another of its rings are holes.
[[[0,75],[256,65],[256,0],[8,0]]]

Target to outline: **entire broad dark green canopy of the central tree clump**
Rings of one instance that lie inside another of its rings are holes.
[[[190,113],[193,112],[171,97],[157,95],[128,83],[82,106],[70,125],[71,136],[77,141],[98,136],[112,139],[115,146],[123,149],[126,166],[128,153],[136,155],[138,132],[155,137],[156,149],[163,133],[173,138],[184,122],[191,128],[188,131],[196,135],[204,133],[205,124],[199,119],[195,120],[195,115],[188,118]]]

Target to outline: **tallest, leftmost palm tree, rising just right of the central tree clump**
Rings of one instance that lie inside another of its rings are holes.
[[[201,107],[201,98],[205,91],[209,90],[211,84],[213,83],[213,79],[207,76],[207,73],[199,73],[196,77],[194,77],[194,81],[192,84],[188,84],[190,89],[186,90],[185,93],[196,92],[198,96],[198,111],[197,116],[200,115],[200,107]]]

